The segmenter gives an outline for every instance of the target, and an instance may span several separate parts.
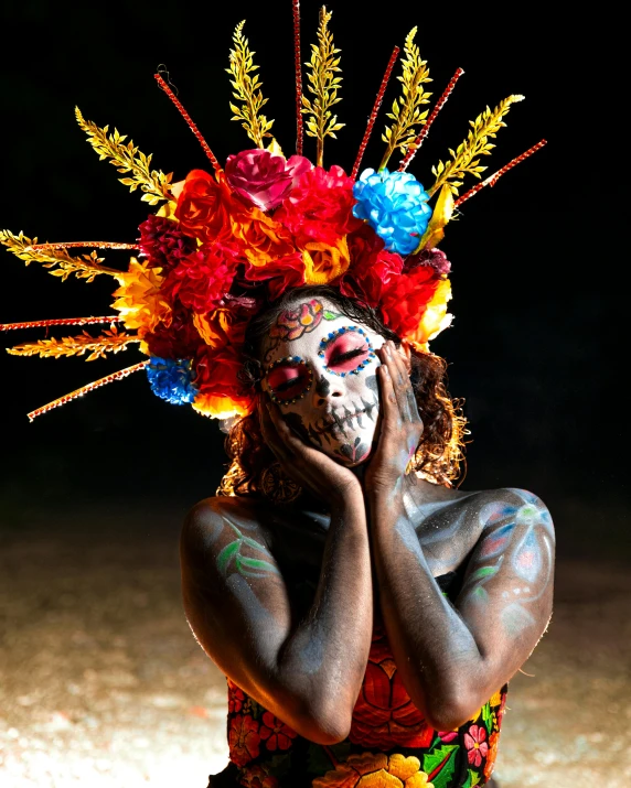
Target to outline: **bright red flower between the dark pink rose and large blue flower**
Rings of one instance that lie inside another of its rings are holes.
[[[340,237],[359,229],[353,216],[353,179],[342,168],[321,166],[306,172],[275,214],[296,237],[298,245],[321,241],[334,246]]]

